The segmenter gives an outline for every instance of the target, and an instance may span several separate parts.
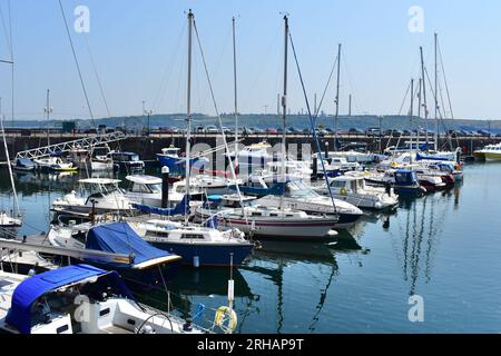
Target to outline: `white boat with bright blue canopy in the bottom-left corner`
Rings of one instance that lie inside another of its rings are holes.
[[[73,265],[26,276],[0,271],[0,330],[8,334],[202,334],[139,304],[117,271]]]

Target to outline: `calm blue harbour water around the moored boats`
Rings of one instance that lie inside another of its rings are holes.
[[[1,171],[7,177],[7,171]],[[501,165],[465,167],[464,184],[403,201],[383,228],[367,215],[336,249],[323,243],[267,243],[234,271],[240,333],[501,332]],[[22,233],[47,230],[50,201],[78,177],[17,176]],[[1,205],[10,202],[1,179]],[[193,315],[226,304],[228,269],[180,270],[173,303]],[[424,298],[424,323],[410,323],[410,295]],[[165,293],[144,295],[158,307]],[[206,317],[214,314],[206,312]]]

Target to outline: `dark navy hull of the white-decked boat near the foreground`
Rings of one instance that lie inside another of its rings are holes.
[[[183,265],[194,265],[194,257],[198,256],[200,266],[229,266],[229,254],[233,253],[233,264],[242,265],[250,254],[252,245],[179,245],[169,243],[153,243],[155,247],[179,255]]]

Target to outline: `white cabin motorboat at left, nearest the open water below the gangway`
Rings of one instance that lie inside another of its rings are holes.
[[[59,214],[90,215],[106,212],[132,212],[134,201],[118,187],[119,179],[88,178],[79,184],[90,187],[90,195],[85,198],[75,190],[52,202],[52,210]]]

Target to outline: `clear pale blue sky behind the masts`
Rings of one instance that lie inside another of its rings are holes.
[[[10,0],[16,60],[16,112],[39,118],[51,89],[55,118],[88,118],[57,0]],[[143,100],[156,113],[186,109],[185,11],[195,12],[220,111],[233,110],[232,17],[237,16],[238,89],[242,112],[276,111],[282,90],[283,20],[291,30],[307,92],[321,93],[343,43],[341,112],[353,93],[355,113],[396,113],[410,78],[419,76],[419,47],[433,70],[433,32],[440,36],[456,118],[497,119],[501,113],[501,2],[405,0],[62,0],[72,28],[73,9],[90,10],[90,32],[71,32],[96,117],[107,116],[94,75],[90,48],[112,116],[140,115]],[[412,33],[407,11],[424,10],[424,31]],[[7,22],[8,0],[0,0]],[[8,24],[8,23],[7,23]],[[8,26],[7,26],[8,31]],[[195,47],[193,109],[214,113]],[[10,57],[0,23],[0,58]],[[0,67],[3,111],[10,69]],[[429,95],[430,96],[430,95]],[[323,109],[334,111],[334,86]],[[305,108],[289,61],[292,111]],[[265,108],[265,106],[267,106]]]

